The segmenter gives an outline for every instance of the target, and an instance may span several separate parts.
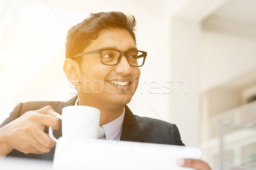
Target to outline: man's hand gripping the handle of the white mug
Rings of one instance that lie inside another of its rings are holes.
[[[51,106],[37,111],[28,111],[0,129],[0,155],[13,149],[23,153],[43,154],[55,146],[55,142],[44,133],[45,126],[58,130],[60,122]]]

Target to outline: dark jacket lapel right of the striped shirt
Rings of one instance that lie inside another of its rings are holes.
[[[134,114],[125,105],[125,117],[123,122],[121,141],[143,142],[144,136]]]

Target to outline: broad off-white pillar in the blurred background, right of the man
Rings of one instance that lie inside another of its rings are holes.
[[[170,95],[170,122],[180,130],[186,146],[198,146],[199,56],[201,25],[172,18],[171,77],[175,84]],[[177,92],[178,88],[178,92]]]

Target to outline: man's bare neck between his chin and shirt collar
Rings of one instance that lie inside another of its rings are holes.
[[[123,106],[116,106],[110,103],[99,103],[85,101],[79,98],[78,105],[90,106],[100,110],[100,122],[99,125],[105,125],[108,122],[118,118],[124,111]]]

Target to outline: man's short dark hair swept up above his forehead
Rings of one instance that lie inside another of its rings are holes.
[[[98,37],[99,31],[113,27],[125,28],[131,34],[136,44],[134,34],[136,20],[133,15],[125,15],[122,12],[100,12],[90,14],[90,16],[81,23],[70,28],[66,41],[66,58],[73,59],[76,54],[82,53],[92,40]]]

